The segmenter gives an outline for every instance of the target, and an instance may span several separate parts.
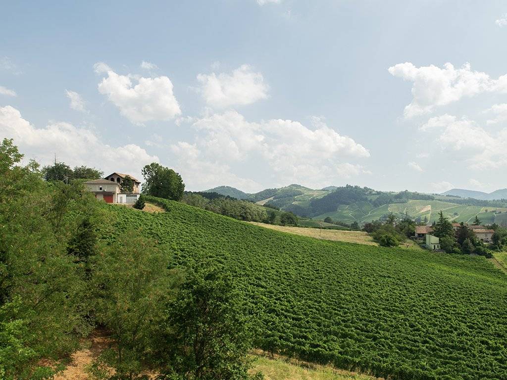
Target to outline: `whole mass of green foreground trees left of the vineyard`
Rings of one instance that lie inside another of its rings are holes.
[[[45,181],[0,144],[0,378],[49,379],[99,327],[111,345],[90,365],[97,379],[247,379],[256,333],[237,284],[199,255],[131,229],[102,240],[115,214],[80,181]],[[111,235],[111,234],[110,234]]]

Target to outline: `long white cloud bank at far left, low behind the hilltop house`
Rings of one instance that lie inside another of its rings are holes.
[[[69,123],[35,128],[9,105],[0,107],[0,135],[13,138],[26,158],[36,158],[43,164],[50,163],[56,153],[60,161],[70,166],[94,166],[104,172],[120,171],[140,178],[143,165],[159,162],[157,156],[137,145],[112,146],[102,142],[92,130]]]

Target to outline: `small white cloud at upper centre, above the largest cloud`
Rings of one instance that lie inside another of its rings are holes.
[[[249,65],[241,65],[231,74],[198,74],[200,92],[207,104],[226,108],[231,105],[251,104],[268,97],[268,85],[260,72]]]

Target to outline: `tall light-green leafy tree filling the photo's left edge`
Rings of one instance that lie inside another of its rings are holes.
[[[84,268],[67,254],[76,216],[91,213],[87,194],[68,194],[67,215],[58,217],[60,186],[45,182],[38,165],[19,165],[12,140],[0,144],[0,377],[48,378],[58,360],[88,333]],[[71,212],[70,212],[71,211]]]

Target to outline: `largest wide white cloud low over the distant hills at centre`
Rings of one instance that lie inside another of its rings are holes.
[[[194,163],[202,160],[223,168],[223,163],[241,167],[256,162],[266,179],[313,186],[368,173],[354,162],[370,157],[368,149],[321,121],[313,128],[281,119],[255,123],[229,110],[194,120],[192,127],[196,139],[185,147],[195,155],[187,161]]]

